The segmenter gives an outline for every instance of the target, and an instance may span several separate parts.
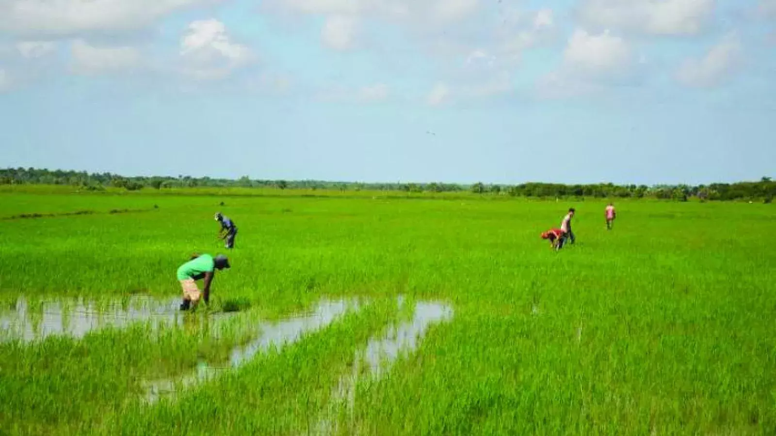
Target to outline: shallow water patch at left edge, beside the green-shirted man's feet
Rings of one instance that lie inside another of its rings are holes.
[[[80,338],[92,330],[126,327],[138,322],[151,322],[153,328],[162,324],[180,326],[184,314],[178,310],[179,304],[178,298],[158,300],[133,296],[124,303],[61,299],[31,307],[26,299],[20,298],[14,306],[0,309],[0,341],[35,341],[52,335]]]

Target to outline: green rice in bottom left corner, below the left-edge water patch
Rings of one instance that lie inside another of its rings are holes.
[[[187,317],[183,328],[139,323],[96,330],[80,341],[52,336],[0,344],[0,427],[11,434],[88,430],[139,396],[144,379],[192,368],[202,358],[227,358],[246,334],[227,326]]]

